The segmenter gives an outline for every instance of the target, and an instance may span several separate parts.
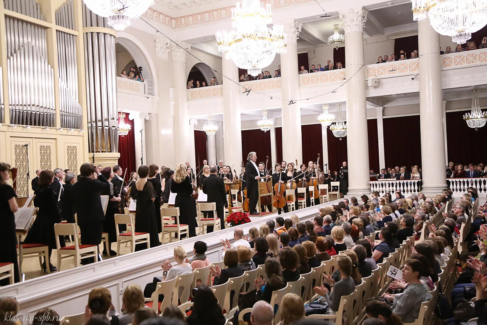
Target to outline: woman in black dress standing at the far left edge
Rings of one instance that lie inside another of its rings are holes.
[[[3,235],[0,236],[0,263],[12,263],[14,265],[14,282],[19,282],[19,262],[17,260],[17,235],[15,233],[14,213],[19,210],[17,205],[17,194],[15,190],[7,184],[10,179],[8,173],[10,165],[0,162],[0,227]],[[0,286],[9,284],[8,279],[0,281]]]

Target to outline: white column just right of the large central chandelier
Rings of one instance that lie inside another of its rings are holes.
[[[280,23],[286,35],[286,53],[281,54],[282,160],[302,160],[300,80],[298,74],[298,35],[302,23]],[[289,104],[293,100],[295,104]]]

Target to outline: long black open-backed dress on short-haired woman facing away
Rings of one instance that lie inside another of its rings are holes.
[[[149,232],[150,247],[160,245],[159,233],[157,232],[157,223],[155,220],[154,202],[156,194],[152,183],[146,182],[142,191],[137,190],[137,187],[132,187],[130,195],[134,200],[137,200],[137,208],[135,209],[135,232]],[[146,249],[144,244],[135,245],[135,250]]]

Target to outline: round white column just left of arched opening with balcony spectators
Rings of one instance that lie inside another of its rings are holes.
[[[191,45],[177,41],[183,48],[189,50]],[[171,43],[172,52],[172,81],[174,87],[174,156],[176,164],[189,161],[190,134],[189,116],[187,114],[186,92],[186,51]],[[192,135],[194,138],[194,135]]]

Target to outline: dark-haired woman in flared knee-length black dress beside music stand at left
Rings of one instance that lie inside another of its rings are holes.
[[[37,207],[37,217],[32,224],[31,229],[27,232],[24,244],[44,244],[49,247],[49,258],[52,256],[53,249],[56,248],[56,235],[54,224],[59,223],[61,218],[57,210],[57,195],[51,188],[53,182],[53,171],[42,171],[39,174],[39,188],[34,198],[34,206]],[[64,244],[64,243],[60,243]],[[57,268],[49,261],[49,266],[44,258],[42,268],[44,271],[49,267],[51,272],[57,271]]]

